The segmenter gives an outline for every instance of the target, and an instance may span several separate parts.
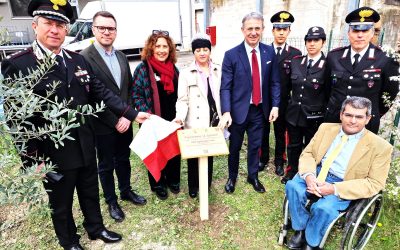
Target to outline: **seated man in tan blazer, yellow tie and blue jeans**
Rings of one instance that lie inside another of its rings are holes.
[[[286,184],[295,234],[290,249],[317,249],[329,224],[352,200],[369,198],[385,186],[392,146],[365,128],[371,101],[349,97],[341,123],[323,123],[299,159],[299,172]],[[306,209],[308,199],[315,199]]]

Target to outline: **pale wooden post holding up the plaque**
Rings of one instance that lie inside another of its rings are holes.
[[[208,157],[199,158],[200,219],[208,220]]]

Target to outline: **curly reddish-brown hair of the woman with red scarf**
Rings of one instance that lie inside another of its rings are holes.
[[[159,38],[164,38],[165,40],[167,40],[168,43],[168,47],[169,47],[169,53],[168,53],[168,58],[167,61],[171,61],[172,63],[176,63],[176,49],[175,49],[175,43],[174,41],[171,39],[171,37],[169,37],[169,35],[166,35],[165,32],[157,32],[151,34],[146,41],[146,44],[144,45],[143,51],[142,51],[142,60],[148,60],[150,59],[150,57],[153,56],[154,54],[154,46],[157,43],[157,40]]]

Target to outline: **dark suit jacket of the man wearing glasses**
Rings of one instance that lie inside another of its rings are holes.
[[[119,84],[115,82],[110,69],[93,44],[84,49],[80,54],[91,65],[97,79],[103,82],[108,89],[117,94],[124,102],[129,105],[132,103],[132,98],[130,97],[133,83],[132,73],[129,68],[128,59],[124,53],[118,50],[115,51],[121,69],[121,82]],[[119,116],[115,115],[109,108],[106,108],[104,112],[98,114],[98,117],[93,117],[95,133],[110,134],[115,132],[115,125],[118,123],[118,119]]]

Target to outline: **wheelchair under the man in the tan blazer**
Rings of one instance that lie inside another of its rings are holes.
[[[309,201],[307,207],[310,208],[312,203],[312,201]],[[382,191],[371,198],[352,201],[349,207],[345,211],[340,212],[339,216],[328,226],[319,244],[319,248],[323,249],[331,229],[338,222],[337,226],[343,229],[340,249],[363,249],[378,224],[382,207]],[[278,245],[287,244],[287,234],[290,229],[289,201],[285,196],[283,202],[283,224],[279,231]]]

